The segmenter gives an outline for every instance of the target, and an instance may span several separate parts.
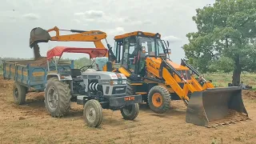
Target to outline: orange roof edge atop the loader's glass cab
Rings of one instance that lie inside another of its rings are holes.
[[[126,33],[126,34],[116,35],[114,37],[114,40],[127,38],[127,37],[135,36],[135,35],[142,35],[142,36],[144,35],[144,36],[149,36],[149,37],[154,37],[155,35],[159,35],[158,38],[161,38],[161,34],[158,34],[158,33],[150,33],[150,32],[145,32],[145,31],[134,31],[134,32]]]

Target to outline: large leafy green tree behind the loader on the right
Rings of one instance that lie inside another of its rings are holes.
[[[186,59],[202,72],[233,66],[238,86],[242,70],[256,70],[256,1],[216,0],[196,12],[198,32],[186,34],[189,43],[182,47]]]

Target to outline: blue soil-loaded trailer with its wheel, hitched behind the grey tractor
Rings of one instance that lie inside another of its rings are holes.
[[[16,104],[23,104],[26,100],[26,94],[30,91],[42,92],[46,86],[46,76],[50,72],[56,72],[56,65],[50,62],[48,67],[45,60],[21,60],[6,61],[3,60],[3,78],[14,80],[13,96]],[[74,69],[74,61],[60,61],[57,65],[57,71],[63,68]],[[48,70],[49,69],[49,70]]]

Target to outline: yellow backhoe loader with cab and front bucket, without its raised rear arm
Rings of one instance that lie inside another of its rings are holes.
[[[241,87],[214,88],[204,78],[200,84],[194,74],[200,75],[184,59],[178,65],[168,58],[169,42],[162,41],[160,34],[134,31],[117,35],[114,40],[111,54],[115,64],[108,62],[103,70],[125,74],[129,79],[127,93],[142,94],[154,112],[164,113],[170,108],[170,100],[181,99],[187,106],[186,122],[196,125],[226,120],[230,111],[248,118]]]

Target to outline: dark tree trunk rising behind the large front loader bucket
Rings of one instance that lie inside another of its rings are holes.
[[[239,86],[241,71],[242,71],[242,66],[240,65],[239,57],[238,57],[235,61],[235,67],[234,67],[233,76],[232,76],[233,86]]]

